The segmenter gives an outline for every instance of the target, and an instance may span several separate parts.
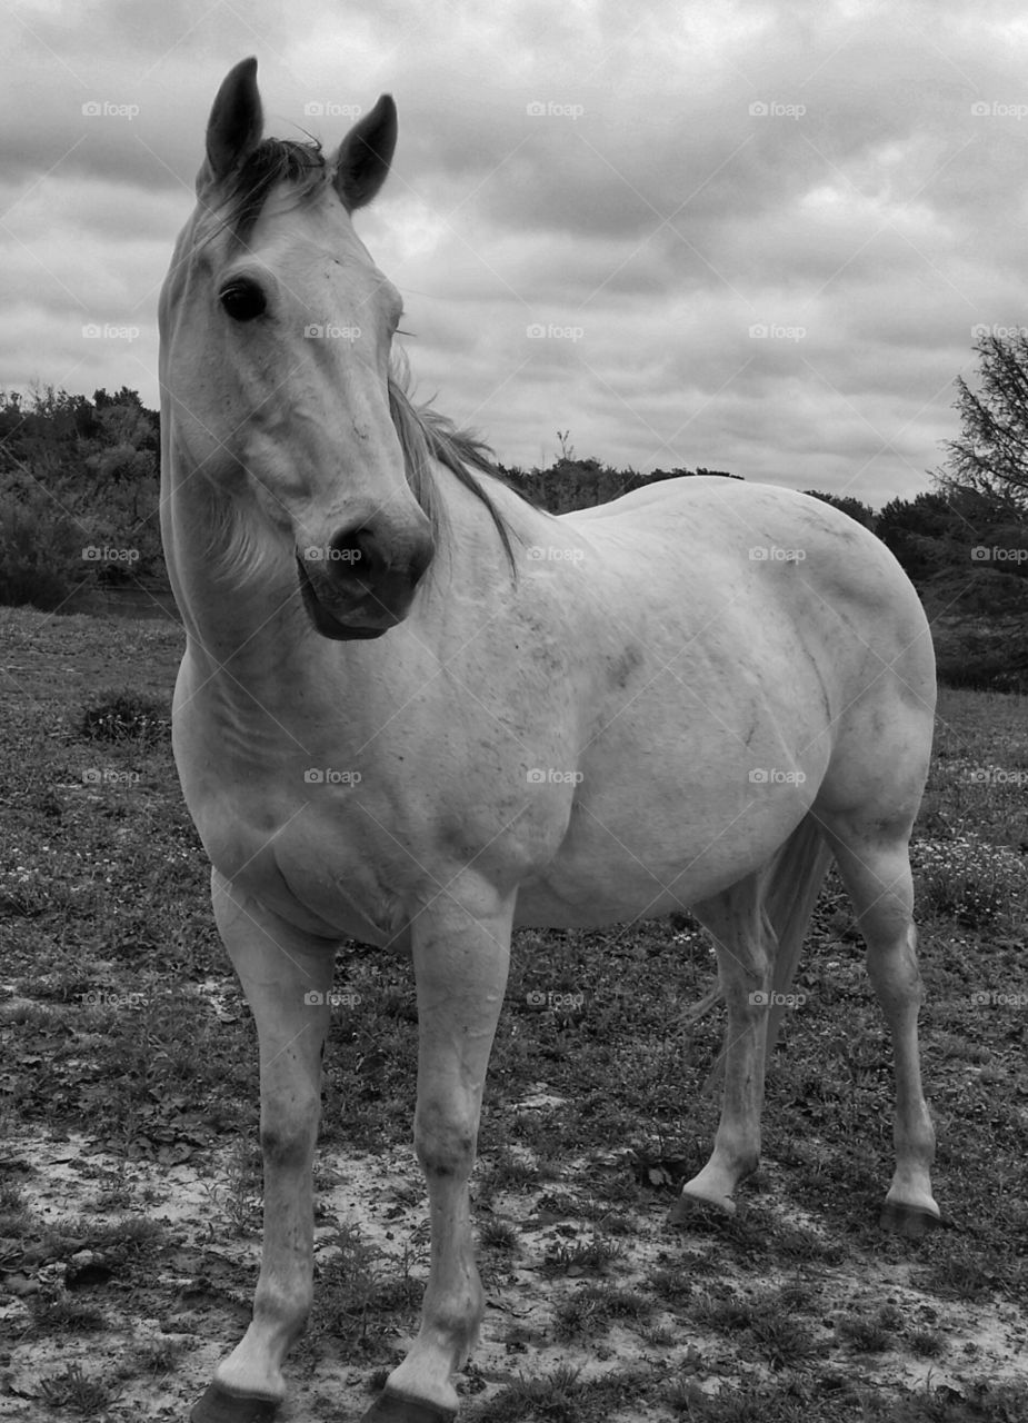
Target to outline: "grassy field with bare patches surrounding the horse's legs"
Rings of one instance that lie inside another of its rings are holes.
[[[0,609],[0,1420],[185,1420],[242,1333],[256,1039],[168,740],[181,630]],[[119,700],[121,699],[121,700]],[[1028,1417],[1028,699],[944,690],[914,842],[946,1228],[883,1237],[892,1073],[829,878],[734,1221],[705,1160],[714,955],[682,915],[522,933],[472,1191],[468,1423]],[[415,1328],[408,965],[337,959],[317,1299],[289,1420],[355,1420]]]

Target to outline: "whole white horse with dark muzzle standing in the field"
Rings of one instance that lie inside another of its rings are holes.
[[[390,171],[392,98],[326,154],[263,137],[256,68],[218,91],[159,300],[173,751],[257,1027],[264,1165],[252,1321],[191,1417],[270,1419],[286,1396],[353,938],[412,961],[431,1215],[419,1331],[364,1423],[451,1423],[483,1315],[468,1183],[515,928],[688,908],[710,931],[721,1117],[673,1214],[732,1212],[835,861],[894,1054],[882,1222],[940,1220],[909,859],[931,639],[884,545],[788,488],[678,478],[560,517],[510,488],[414,401],[402,297],[354,231]]]

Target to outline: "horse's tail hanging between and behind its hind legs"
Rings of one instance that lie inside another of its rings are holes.
[[[768,1010],[768,1039],[764,1053],[765,1067],[778,1040],[778,1030],[785,1013],[785,996],[796,976],[806,926],[810,922],[818,892],[830,864],[832,851],[825,842],[818,821],[813,815],[805,815],[761,874],[759,914],[775,958],[771,983],[772,999]],[[692,1020],[701,1017],[719,996],[718,989],[708,993],[690,1015]],[[718,1056],[704,1083],[704,1093],[712,1091],[719,1084],[722,1073],[724,1053]]]

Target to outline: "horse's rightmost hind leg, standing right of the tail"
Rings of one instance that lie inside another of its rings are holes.
[[[822,828],[853,901],[867,945],[867,972],[893,1042],[896,1174],[882,1225],[901,1235],[921,1235],[938,1221],[940,1211],[930,1178],[936,1134],[921,1090],[917,1046],[917,1013],[924,995],[907,852],[910,824],[904,820],[883,827],[869,818],[825,815]]]

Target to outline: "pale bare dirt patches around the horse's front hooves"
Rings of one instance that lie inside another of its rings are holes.
[[[546,1110],[539,1099],[530,1106]],[[131,1214],[138,1218],[145,1212],[162,1227],[166,1239],[148,1279],[132,1281],[129,1299],[119,1286],[117,1266],[102,1281],[81,1288],[74,1285],[81,1258],[57,1268],[44,1266],[43,1272],[11,1268],[9,1259],[0,1331],[13,1346],[3,1370],[0,1419],[50,1416],[47,1380],[74,1363],[87,1377],[102,1377],[117,1392],[98,1416],[154,1423],[185,1417],[219,1358],[246,1326],[259,1265],[257,1198],[240,1198],[230,1153],[215,1153],[202,1164],[127,1163],[97,1151],[81,1134],[34,1134],[14,1140],[11,1157],[24,1167],[24,1192],[33,1212],[47,1225],[77,1222],[71,1225],[74,1231],[82,1229],[85,1221],[117,1228],[125,1220],[124,1210],[102,1204],[117,1184],[124,1192],[121,1198],[135,1202]],[[582,1183],[610,1165],[610,1158],[576,1161],[567,1180]],[[318,1272],[338,1254],[334,1241],[344,1227],[357,1229],[368,1247],[381,1252],[380,1268],[385,1274],[404,1271],[424,1279],[428,1215],[421,1173],[409,1148],[358,1157],[323,1151],[318,1180],[327,1183],[318,1197]],[[596,1220],[547,1210],[547,1200],[560,1188],[562,1183],[549,1183],[545,1191],[528,1195],[500,1191],[488,1212],[478,1212],[479,1224],[483,1220],[513,1224],[518,1239],[513,1251],[502,1255],[489,1248],[479,1252],[488,1308],[471,1370],[461,1383],[469,1405],[482,1407],[519,1377],[542,1377],[560,1366],[577,1370],[583,1382],[627,1366],[646,1366],[668,1382],[694,1379],[711,1393],[751,1376],[752,1359],[745,1358],[745,1349],[727,1346],[724,1332],[682,1325],[674,1308],[657,1308],[646,1329],[616,1322],[597,1338],[557,1338],[557,1321],[566,1318],[569,1303],[597,1279],[614,1286],[623,1298],[637,1292],[653,1301],[654,1272],[668,1268],[681,1271],[682,1288],[691,1285],[702,1294],[707,1286],[714,1285],[719,1292],[728,1286],[741,1301],[756,1301],[758,1308],[769,1291],[803,1281],[818,1294],[820,1316],[808,1318],[806,1323],[819,1353],[833,1353],[840,1370],[873,1389],[913,1390],[930,1383],[963,1393],[983,1375],[994,1383],[1024,1376],[1028,1346],[1024,1311],[994,1302],[968,1306],[926,1295],[909,1264],[866,1259],[859,1275],[849,1262],[761,1275],[721,1264],[715,1275],[690,1279],[690,1254],[710,1252],[711,1239],[702,1232],[671,1231],[663,1200],[633,1212],[631,1234],[619,1237],[623,1254],[607,1268],[587,1274],[572,1265],[555,1274],[552,1262],[562,1248],[567,1252],[569,1247],[587,1244],[597,1232]],[[801,1212],[775,1214],[793,1231],[818,1234],[810,1218]],[[245,1215],[249,1224],[240,1225]],[[70,1333],[57,1342],[34,1339],[33,1296],[40,1289],[57,1294],[68,1282],[73,1285],[68,1292],[77,1301],[88,1298],[105,1315],[107,1326],[81,1336]],[[839,1319],[882,1305],[893,1306],[906,1328],[941,1335],[941,1358],[917,1360],[894,1348],[872,1355],[840,1350]],[[391,1348],[375,1363],[391,1366],[409,1342],[409,1335],[392,1331]],[[139,1375],[141,1359],[159,1363],[166,1356],[175,1356],[173,1372],[162,1375],[155,1365],[151,1375]],[[283,1420],[358,1417],[368,1402],[373,1372],[371,1360],[346,1358],[324,1339],[313,1349],[301,1345],[289,1368],[291,1396]],[[772,1365],[768,1373],[773,1373]],[[647,1402],[637,1410],[620,1409],[614,1416],[621,1423],[671,1423],[680,1414]]]

